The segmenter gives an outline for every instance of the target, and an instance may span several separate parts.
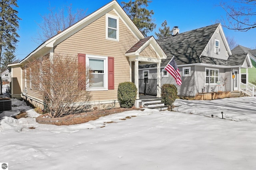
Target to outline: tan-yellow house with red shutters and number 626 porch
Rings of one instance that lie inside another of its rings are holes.
[[[92,107],[102,105],[102,109],[119,107],[117,89],[120,82],[134,82],[139,88],[139,64],[157,64],[157,83],[160,86],[160,63],[161,59],[166,59],[166,54],[154,37],[145,38],[118,2],[113,0],[46,40],[20,63],[9,64],[11,97],[23,98],[43,107],[43,96],[29,87],[24,68],[29,60],[44,55],[51,57],[54,53],[77,56],[78,61],[97,59],[104,63],[102,82],[97,84],[97,88],[92,86],[89,89]],[[160,88],[157,89],[157,97],[160,97]]]

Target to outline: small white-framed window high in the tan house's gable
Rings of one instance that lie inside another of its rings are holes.
[[[106,14],[106,39],[119,41],[119,18]]]

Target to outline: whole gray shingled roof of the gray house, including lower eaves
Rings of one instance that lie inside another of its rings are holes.
[[[167,55],[167,59],[162,60],[161,67],[165,67],[172,58],[172,56],[175,56],[174,59],[178,65],[194,63],[207,63],[222,66],[242,65],[247,55],[247,53],[244,53],[244,50],[250,50],[246,47],[236,49],[237,53],[243,54],[232,55],[228,58],[228,60],[216,59],[206,56],[200,57],[207,43],[210,41],[214,31],[217,29],[218,25],[219,23],[216,23],[214,25],[209,25],[206,27],[180,33],[175,36],[158,39],[157,42]],[[156,64],[139,66],[139,68],[153,67],[156,67]]]

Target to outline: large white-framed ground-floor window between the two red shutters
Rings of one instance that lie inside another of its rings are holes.
[[[108,90],[107,65],[108,57],[86,55],[86,63],[89,64],[92,74],[92,84],[89,90]]]

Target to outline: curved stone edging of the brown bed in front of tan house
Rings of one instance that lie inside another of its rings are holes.
[[[139,110],[139,109],[115,108],[115,109],[109,109],[109,110],[88,111],[88,112],[83,112],[83,113],[78,113],[78,114],[73,114],[73,115],[66,115],[64,117],[56,117],[56,118],[51,118],[51,117],[49,117],[48,113],[45,113],[43,115],[36,117],[36,122],[41,123],[41,124],[53,124],[54,125],[56,122],[70,121],[74,117],[90,117],[92,115],[105,116],[105,115],[110,115],[110,114],[114,114],[114,113],[120,113],[123,111],[130,111],[130,110]]]

